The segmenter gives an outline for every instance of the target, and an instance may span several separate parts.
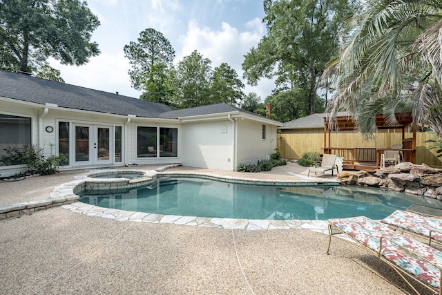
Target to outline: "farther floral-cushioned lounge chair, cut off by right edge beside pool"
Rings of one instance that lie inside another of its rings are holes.
[[[381,222],[390,225],[395,230],[402,229],[410,234],[428,238],[428,245],[432,240],[442,242],[442,219],[422,216],[418,213],[396,210]]]

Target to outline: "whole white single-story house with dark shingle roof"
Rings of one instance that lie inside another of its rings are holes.
[[[64,154],[60,170],[182,164],[235,171],[276,149],[280,122],[228,104],[165,104],[0,70],[0,178],[26,170],[8,149]]]

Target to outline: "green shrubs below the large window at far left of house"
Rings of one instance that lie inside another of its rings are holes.
[[[58,167],[66,161],[64,155],[44,157],[43,151],[37,146],[10,147],[5,149],[6,155],[1,156],[0,162],[6,165],[28,165],[28,173],[50,175],[58,172]]]

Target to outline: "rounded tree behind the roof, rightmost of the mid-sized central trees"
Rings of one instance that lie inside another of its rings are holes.
[[[211,77],[210,99],[212,104],[225,102],[231,106],[239,106],[244,98],[244,84],[238,79],[236,70],[222,63],[215,67]]]

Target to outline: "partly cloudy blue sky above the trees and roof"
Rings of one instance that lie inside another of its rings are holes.
[[[241,64],[252,47],[265,35],[262,0],[89,0],[100,26],[93,32],[101,54],[84,66],[64,66],[55,59],[50,65],[61,71],[67,84],[84,86],[131,97],[141,92],[131,87],[129,61],[123,48],[137,41],[140,32],[153,28],[168,39],[177,64],[197,50],[212,61],[214,69],[226,62],[242,79]],[[243,80],[244,93],[261,100],[271,94],[273,82],[261,79],[257,86]]]

